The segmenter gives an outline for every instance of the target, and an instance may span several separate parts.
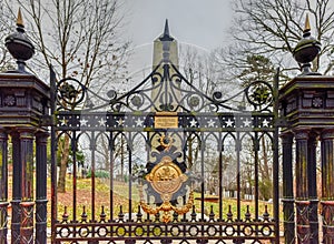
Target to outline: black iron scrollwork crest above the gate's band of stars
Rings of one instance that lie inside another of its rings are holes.
[[[86,88],[76,79],[67,78],[57,83],[57,99],[65,110],[73,110],[85,100],[85,110],[109,106],[111,112],[244,112],[246,108],[240,106],[240,102],[247,102],[247,105],[258,111],[268,112],[268,108],[273,105],[273,88],[267,82],[256,81],[235,94],[214,91],[209,95],[189,82],[173,63],[160,63],[126,93],[109,90],[101,94]]]

